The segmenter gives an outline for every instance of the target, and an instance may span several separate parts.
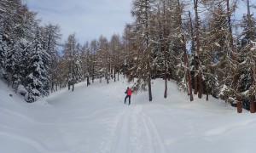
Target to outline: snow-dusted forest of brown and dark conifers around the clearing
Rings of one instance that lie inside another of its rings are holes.
[[[236,19],[237,3],[247,12]],[[209,94],[255,111],[256,19],[249,0],[132,0],[133,22],[113,34],[81,44],[76,34],[61,42],[61,27],[40,26],[37,13],[21,0],[0,1],[0,78],[32,103],[78,82],[134,82],[148,91],[152,80],[171,79],[202,98]],[[169,94],[172,96],[172,94]]]

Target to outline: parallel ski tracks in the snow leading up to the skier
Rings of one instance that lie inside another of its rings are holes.
[[[99,152],[166,153],[164,141],[150,116],[143,112],[143,105],[125,105],[115,120]]]

